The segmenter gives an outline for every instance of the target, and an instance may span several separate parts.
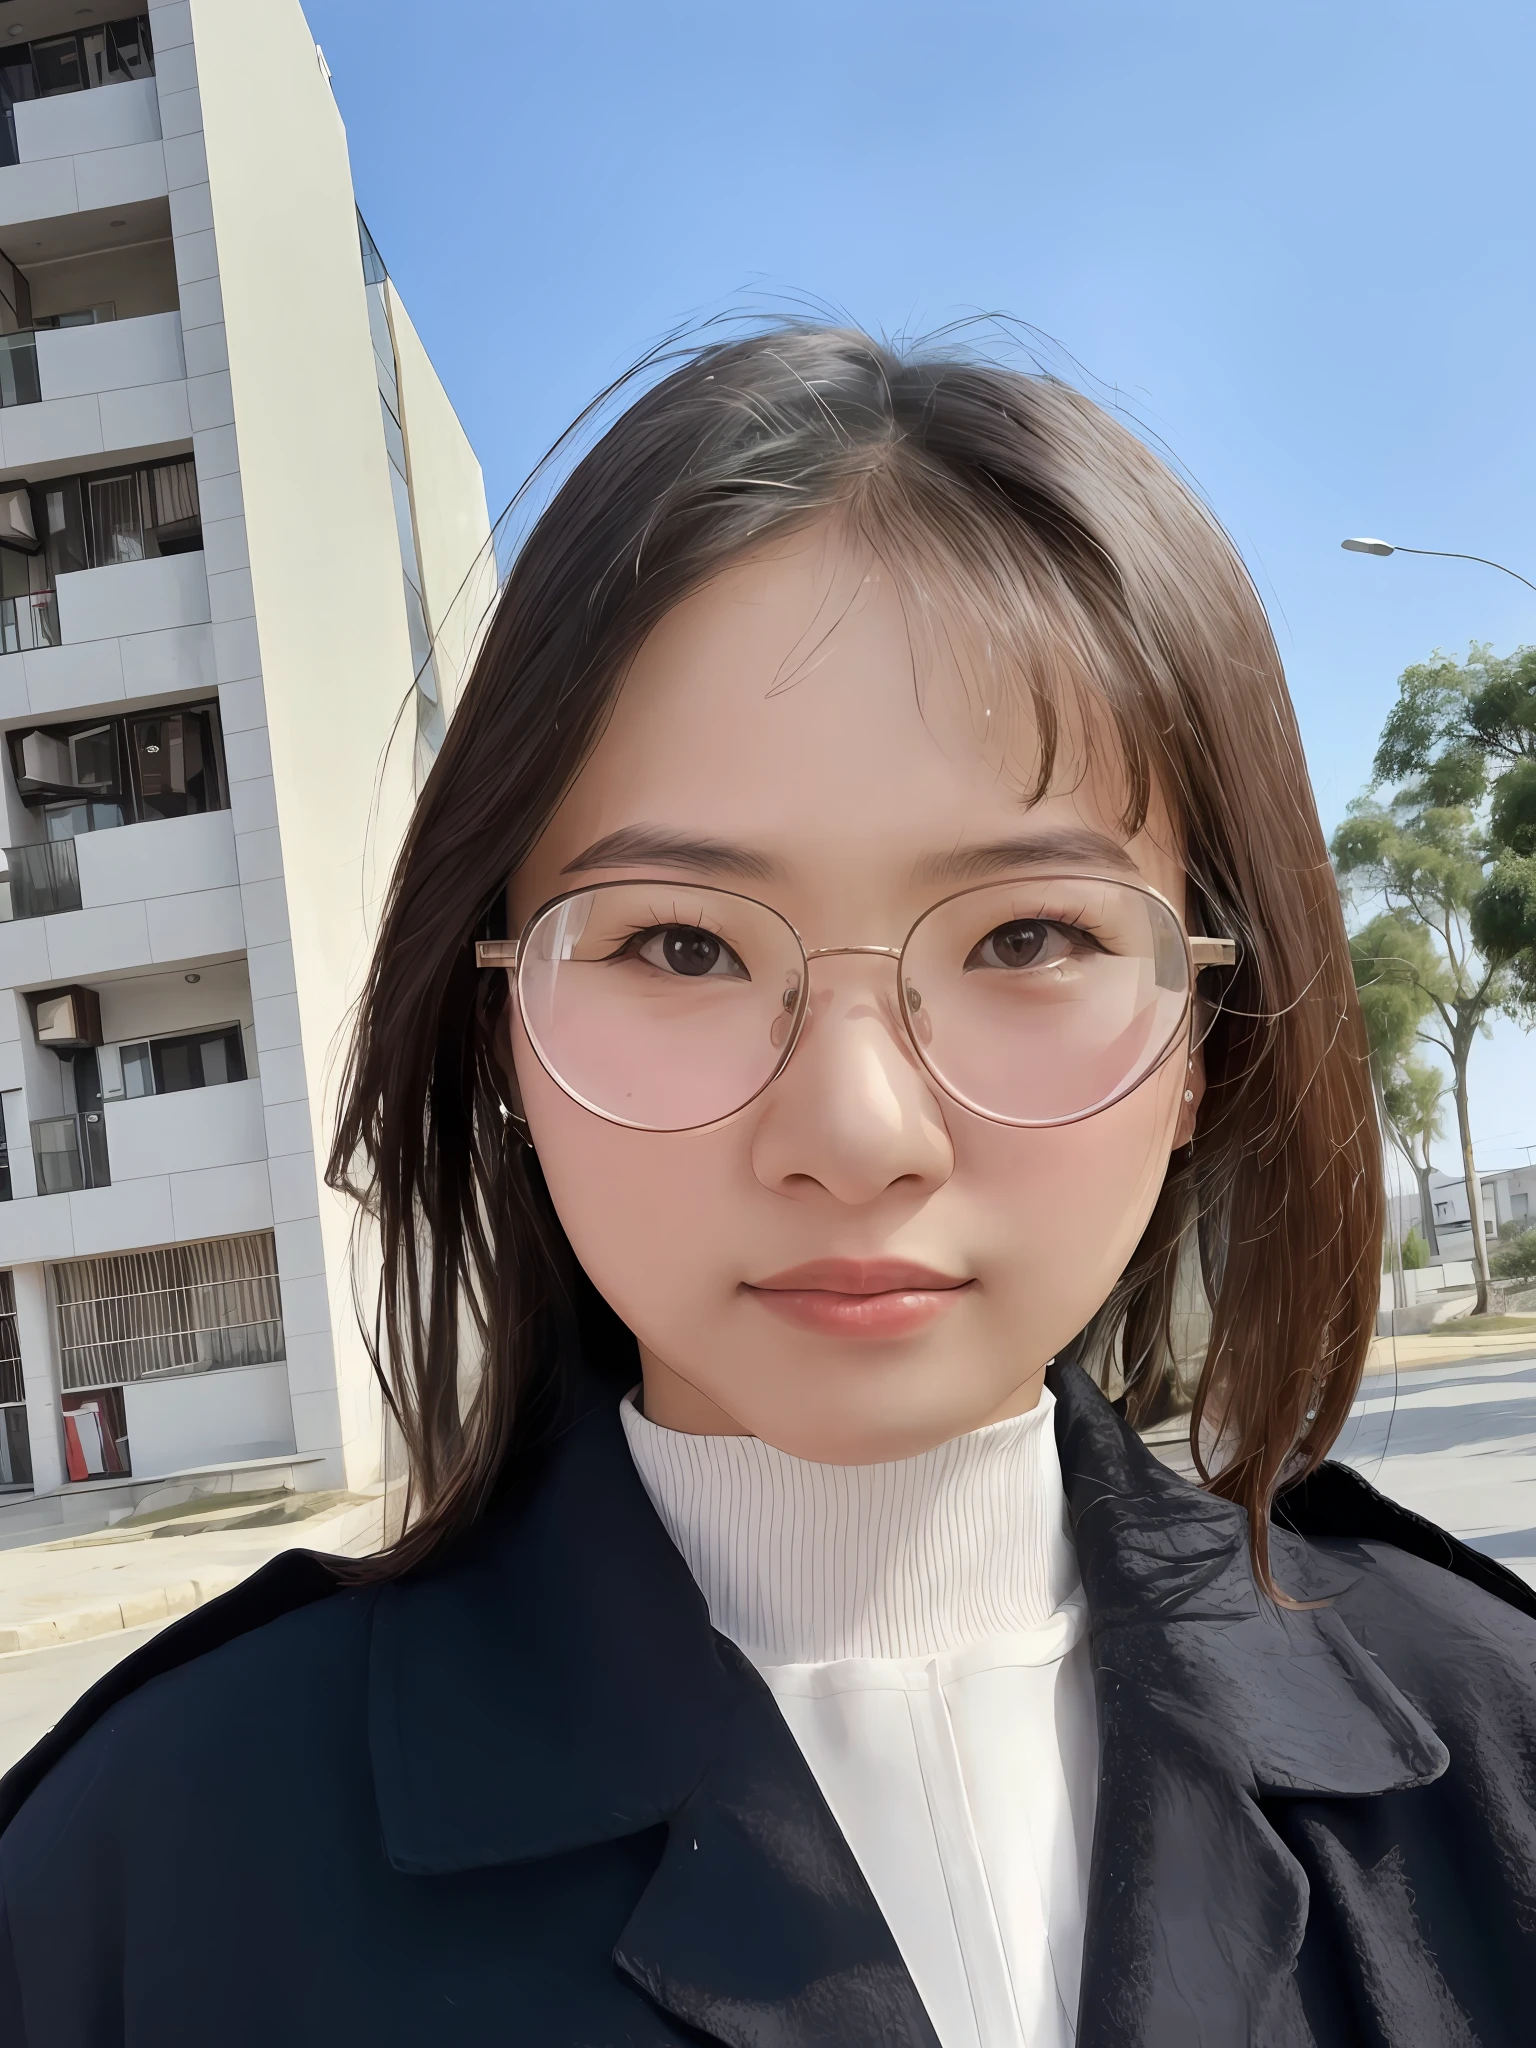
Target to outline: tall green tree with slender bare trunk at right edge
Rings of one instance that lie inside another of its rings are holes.
[[[1399,786],[1382,803],[1376,791],[1391,780]],[[1536,649],[1497,657],[1475,645],[1464,664],[1436,655],[1403,672],[1374,780],[1333,836],[1333,864],[1346,889],[1384,905],[1352,940],[1368,1026],[1374,1006],[1378,1028],[1397,1016],[1401,1038],[1417,1008],[1413,1038],[1450,1063],[1475,1313],[1485,1315],[1466,1071],[1495,1012],[1536,1022]]]

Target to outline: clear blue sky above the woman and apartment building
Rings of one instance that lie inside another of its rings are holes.
[[[1180,459],[1274,616],[1325,825],[1395,678],[1536,641],[1530,100],[1505,0],[307,0],[492,508],[678,322],[1004,311]],[[1071,358],[1071,362],[1067,360]],[[1536,1147],[1536,1038],[1475,1067]],[[1536,1153],[1532,1153],[1536,1157]],[[1450,1163],[1450,1155],[1446,1155]]]

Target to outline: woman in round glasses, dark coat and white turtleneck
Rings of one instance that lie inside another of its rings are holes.
[[[332,1178],[410,1530],[12,1774],[6,2042],[1530,2038],[1536,1604],[1321,1464],[1339,905],[1241,565],[1085,399],[803,328],[610,428]],[[1094,1382],[1155,1399],[1192,1257],[1204,1489]]]

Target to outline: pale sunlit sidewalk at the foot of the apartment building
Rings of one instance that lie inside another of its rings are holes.
[[[281,1550],[362,1556],[381,1528],[381,1495],[283,1489],[182,1501],[88,1536],[0,1550],[0,1686],[6,1657],[190,1614]]]

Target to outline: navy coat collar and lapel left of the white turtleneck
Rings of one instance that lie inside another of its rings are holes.
[[[731,2048],[938,2048],[772,1694],[645,1499],[616,1395],[449,1567],[383,1591],[369,1720],[397,1870],[664,1825],[614,1950],[664,2011]]]

